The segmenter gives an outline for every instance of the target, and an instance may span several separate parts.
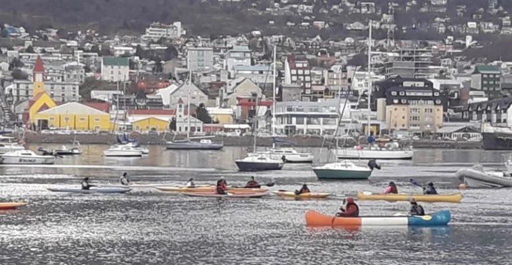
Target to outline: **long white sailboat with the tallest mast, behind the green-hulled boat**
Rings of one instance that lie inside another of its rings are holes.
[[[371,136],[370,114],[371,114],[371,95],[372,95],[372,76],[371,76],[371,57],[372,57],[372,20],[369,26],[368,38],[368,137]],[[407,159],[413,158],[412,146],[400,146],[398,143],[386,143],[377,146],[357,145],[353,148],[342,148],[337,152],[338,159]]]

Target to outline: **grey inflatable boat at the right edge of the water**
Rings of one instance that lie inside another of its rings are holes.
[[[512,179],[486,174],[474,169],[460,169],[455,176],[468,187],[472,188],[501,188],[512,187]]]

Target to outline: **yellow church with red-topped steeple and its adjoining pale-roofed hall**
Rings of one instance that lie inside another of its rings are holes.
[[[57,105],[45,91],[45,69],[37,57],[33,69],[34,93],[27,109],[28,122],[38,129],[57,128],[69,130],[110,130],[110,115],[99,109],[68,102]]]

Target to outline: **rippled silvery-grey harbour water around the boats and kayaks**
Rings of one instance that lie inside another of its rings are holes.
[[[30,146],[36,149],[37,146]],[[47,145],[47,147],[56,147]],[[409,184],[435,181],[443,193],[455,192],[457,169],[479,161],[503,169],[500,152],[417,150],[414,160],[385,162],[370,181],[318,182],[310,165],[241,173],[233,160],[245,148],[223,151],[167,151],[151,146],[151,155],[106,159],[106,146],[83,146],[82,156],[58,159],[46,167],[0,167],[0,201],[27,201],[19,211],[0,213],[0,264],[509,264],[512,259],[511,189],[466,190],[461,204],[423,204],[426,211],[450,209],[452,223],[439,228],[308,229],[304,212],[336,212],[345,195],[380,191],[394,180],[402,192]],[[321,163],[327,151],[305,149]],[[331,160],[333,158],[331,157]],[[364,164],[364,161],[360,163]],[[88,166],[86,166],[88,165]],[[162,193],[151,188],[127,194],[57,194],[48,187],[77,187],[81,176],[97,184],[117,182],[128,171],[132,181],[199,184],[225,176],[242,184],[250,175],[275,181],[273,189],[302,183],[336,194],[329,200],[219,200]],[[406,212],[408,203],[359,202],[361,214]]]

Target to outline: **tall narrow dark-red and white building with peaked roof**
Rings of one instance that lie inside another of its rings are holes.
[[[300,85],[307,94],[311,90],[311,67],[306,58],[298,58],[294,54],[288,56],[285,61],[284,84]]]

